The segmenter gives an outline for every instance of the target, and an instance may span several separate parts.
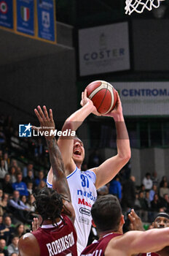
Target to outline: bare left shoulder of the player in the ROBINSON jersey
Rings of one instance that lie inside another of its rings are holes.
[[[25,233],[23,235],[19,242],[18,242],[18,249],[20,252],[20,255],[23,256],[31,256],[32,252],[34,252],[34,255],[39,256],[40,255],[40,249],[38,241],[36,240],[35,236],[32,233]]]

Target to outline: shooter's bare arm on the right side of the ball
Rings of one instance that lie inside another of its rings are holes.
[[[122,114],[122,103],[119,99],[118,93],[116,108],[105,116],[111,116],[115,121],[117,130],[117,155],[107,159],[102,165],[94,170],[96,174],[95,187],[97,189],[102,187],[104,184],[107,184],[112,178],[114,178],[114,176],[117,175],[119,170],[127,164],[131,154],[130,141]]]

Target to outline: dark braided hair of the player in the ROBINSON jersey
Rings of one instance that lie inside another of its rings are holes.
[[[55,189],[44,187],[34,197],[36,199],[34,202],[36,213],[41,215],[42,223],[45,219],[50,219],[54,225],[55,219],[60,217],[63,208],[62,196]],[[60,219],[62,218],[60,217]]]

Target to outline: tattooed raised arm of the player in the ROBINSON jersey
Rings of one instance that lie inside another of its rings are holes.
[[[50,109],[50,116],[47,113],[47,108],[44,106],[43,111],[40,106],[35,109],[37,118],[39,119],[41,129],[44,131],[44,137],[47,141],[47,147],[50,154],[50,164],[52,166],[53,178],[52,187],[56,189],[60,195],[63,195],[64,209],[71,219],[74,219],[74,208],[71,205],[71,195],[68,188],[68,182],[64,173],[63,159],[60,154],[58,143],[52,131],[55,130],[55,123],[52,117],[52,110]],[[49,135],[45,135],[48,132]]]

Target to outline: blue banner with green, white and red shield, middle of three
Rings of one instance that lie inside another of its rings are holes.
[[[17,0],[17,31],[34,36],[34,0]]]

